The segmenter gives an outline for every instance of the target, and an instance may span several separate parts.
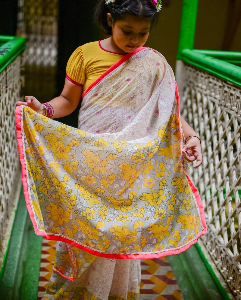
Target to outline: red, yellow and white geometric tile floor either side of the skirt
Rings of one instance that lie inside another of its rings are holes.
[[[37,300],[41,300],[52,274],[55,241],[43,240]],[[183,300],[167,257],[141,261],[140,300]]]

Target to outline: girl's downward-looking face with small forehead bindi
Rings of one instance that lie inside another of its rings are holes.
[[[117,52],[131,53],[142,47],[149,36],[151,21],[127,15],[123,20],[111,21],[111,14],[107,14],[108,24],[112,26],[112,44]]]

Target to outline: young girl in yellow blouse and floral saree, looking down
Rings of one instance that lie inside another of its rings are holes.
[[[74,51],[59,97],[17,102],[27,208],[36,234],[57,240],[42,299],[139,299],[140,259],[180,253],[206,233],[183,160],[202,163],[200,140],[180,116],[170,66],[143,47],[160,9],[100,0],[95,17],[110,37]],[[51,120],[80,98],[78,129]]]

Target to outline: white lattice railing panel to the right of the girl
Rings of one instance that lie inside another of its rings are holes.
[[[241,89],[181,64],[181,114],[202,141],[203,163],[192,169],[208,226],[201,240],[241,299]]]

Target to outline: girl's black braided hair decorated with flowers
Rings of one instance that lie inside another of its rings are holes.
[[[107,13],[111,14],[113,22],[123,20],[128,14],[150,20],[151,28],[158,21],[158,13],[152,0],[115,0],[109,4],[106,4],[106,0],[99,0],[95,8],[94,18],[107,35],[111,35],[111,27],[106,18]]]

